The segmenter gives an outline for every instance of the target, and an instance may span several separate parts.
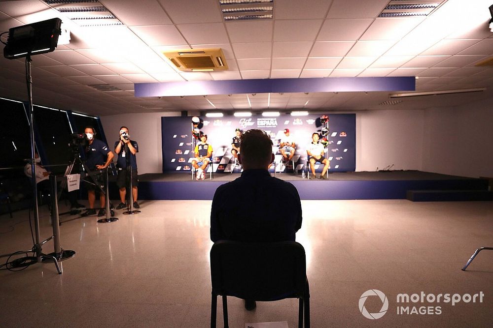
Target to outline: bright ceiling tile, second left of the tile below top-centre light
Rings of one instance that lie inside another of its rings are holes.
[[[149,46],[186,43],[174,25],[134,26],[133,30]]]

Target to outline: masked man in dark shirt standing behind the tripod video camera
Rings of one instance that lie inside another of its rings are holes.
[[[89,144],[86,147],[86,168],[90,171],[106,169],[114,157],[113,152],[108,149],[104,142],[95,138],[96,131],[94,130],[94,127],[86,126],[84,129],[84,135],[86,136]],[[105,185],[105,179],[102,172],[98,172],[96,175],[92,174],[91,177],[98,185]],[[83,215],[95,215],[96,210],[94,209],[94,203],[96,201],[96,190],[100,190],[96,185],[88,183],[87,181],[86,188],[87,198],[89,200],[89,209]],[[100,192],[99,201],[101,207],[98,212],[98,216],[105,216],[105,195],[102,192]]]

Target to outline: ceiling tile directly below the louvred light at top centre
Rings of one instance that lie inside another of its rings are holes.
[[[271,20],[226,22],[226,30],[231,43],[270,42],[273,25],[274,22]]]

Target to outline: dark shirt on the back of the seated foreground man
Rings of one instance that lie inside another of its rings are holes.
[[[220,185],[212,200],[211,240],[294,241],[301,228],[296,187],[267,170],[246,170]]]

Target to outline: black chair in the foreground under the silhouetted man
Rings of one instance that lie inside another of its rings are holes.
[[[305,249],[296,241],[250,243],[230,240],[211,248],[211,328],[216,327],[217,296],[222,296],[224,327],[228,296],[258,301],[299,298],[298,327],[310,327],[310,288]]]

